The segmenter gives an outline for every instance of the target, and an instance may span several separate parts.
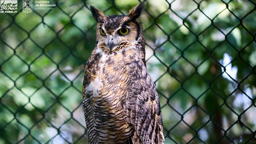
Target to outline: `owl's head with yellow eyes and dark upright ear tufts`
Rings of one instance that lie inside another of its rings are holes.
[[[144,10],[144,3],[140,3],[130,10],[128,15],[104,15],[91,6],[93,18],[97,23],[97,41],[103,43],[109,51],[115,51],[118,45],[124,43],[144,42],[142,25],[137,20]]]

